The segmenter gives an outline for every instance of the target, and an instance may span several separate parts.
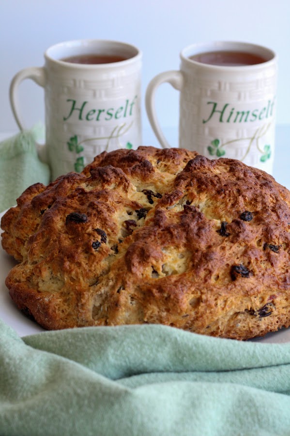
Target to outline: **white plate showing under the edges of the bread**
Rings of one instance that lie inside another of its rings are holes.
[[[0,213],[0,219],[5,211]],[[2,230],[1,230],[2,232]],[[0,319],[13,327],[19,336],[32,335],[44,331],[40,325],[34,323],[23,315],[11,300],[8,289],[5,285],[5,278],[11,268],[16,265],[16,261],[3,250],[0,246]],[[290,342],[290,327],[278,332],[269,333],[264,338],[252,339],[262,343],[283,343]]]

